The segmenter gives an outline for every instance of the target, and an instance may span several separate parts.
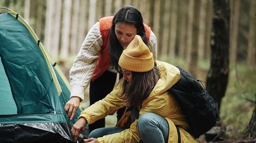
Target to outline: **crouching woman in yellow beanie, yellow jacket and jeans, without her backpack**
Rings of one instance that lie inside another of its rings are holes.
[[[167,90],[180,79],[175,66],[156,60],[140,36],[123,51],[119,66],[123,81],[103,100],[85,109],[72,127],[75,140],[86,124],[106,117],[110,112],[126,106],[116,127],[105,127],[90,133],[85,142],[91,143],[177,143],[197,142],[186,130],[188,122],[181,108]],[[176,128],[179,127],[179,128]]]

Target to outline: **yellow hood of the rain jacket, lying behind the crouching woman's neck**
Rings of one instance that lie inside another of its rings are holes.
[[[149,97],[156,96],[167,91],[181,78],[180,70],[177,67],[158,60],[156,60],[156,63],[157,68],[159,69],[160,79]]]

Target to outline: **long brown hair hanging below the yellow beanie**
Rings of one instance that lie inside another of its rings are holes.
[[[150,71],[132,71],[132,77],[133,78],[130,84],[126,80],[124,80],[122,85],[122,91],[119,96],[124,99],[122,103],[125,106],[139,107],[142,104],[143,100],[148,98],[157,81],[159,80],[159,70],[155,63],[154,68]]]

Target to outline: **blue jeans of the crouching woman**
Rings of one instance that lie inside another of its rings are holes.
[[[121,127],[105,127],[92,131],[89,138],[98,138],[104,135],[120,133],[127,128]],[[155,113],[145,113],[139,117],[138,120],[139,134],[144,143],[167,143],[169,136],[168,122]],[[140,143],[142,143],[140,141]]]

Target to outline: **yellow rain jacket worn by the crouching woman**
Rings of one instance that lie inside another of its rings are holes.
[[[189,129],[185,115],[181,111],[174,96],[167,91],[181,78],[180,71],[175,66],[166,62],[158,60],[156,62],[157,68],[159,69],[160,79],[149,97],[143,101],[142,108],[139,111],[139,117],[144,113],[152,112],[166,119],[169,124],[168,143],[178,142],[178,133],[175,125],[179,126],[181,143],[195,143],[197,142],[196,138],[184,130]],[[122,82],[104,99],[96,102],[81,112],[78,119],[84,117],[87,119],[88,124],[92,124],[96,120],[106,117],[115,109],[123,107],[121,104],[122,99],[118,97],[121,89]],[[137,120],[129,124],[130,111],[125,112],[125,114],[126,115],[123,115],[117,122],[117,126],[123,127],[125,120],[125,123],[128,124],[130,128],[120,133],[99,137],[97,138],[99,143],[137,143],[141,140],[139,131],[138,129],[136,130]],[[125,117],[126,119],[124,119]]]

